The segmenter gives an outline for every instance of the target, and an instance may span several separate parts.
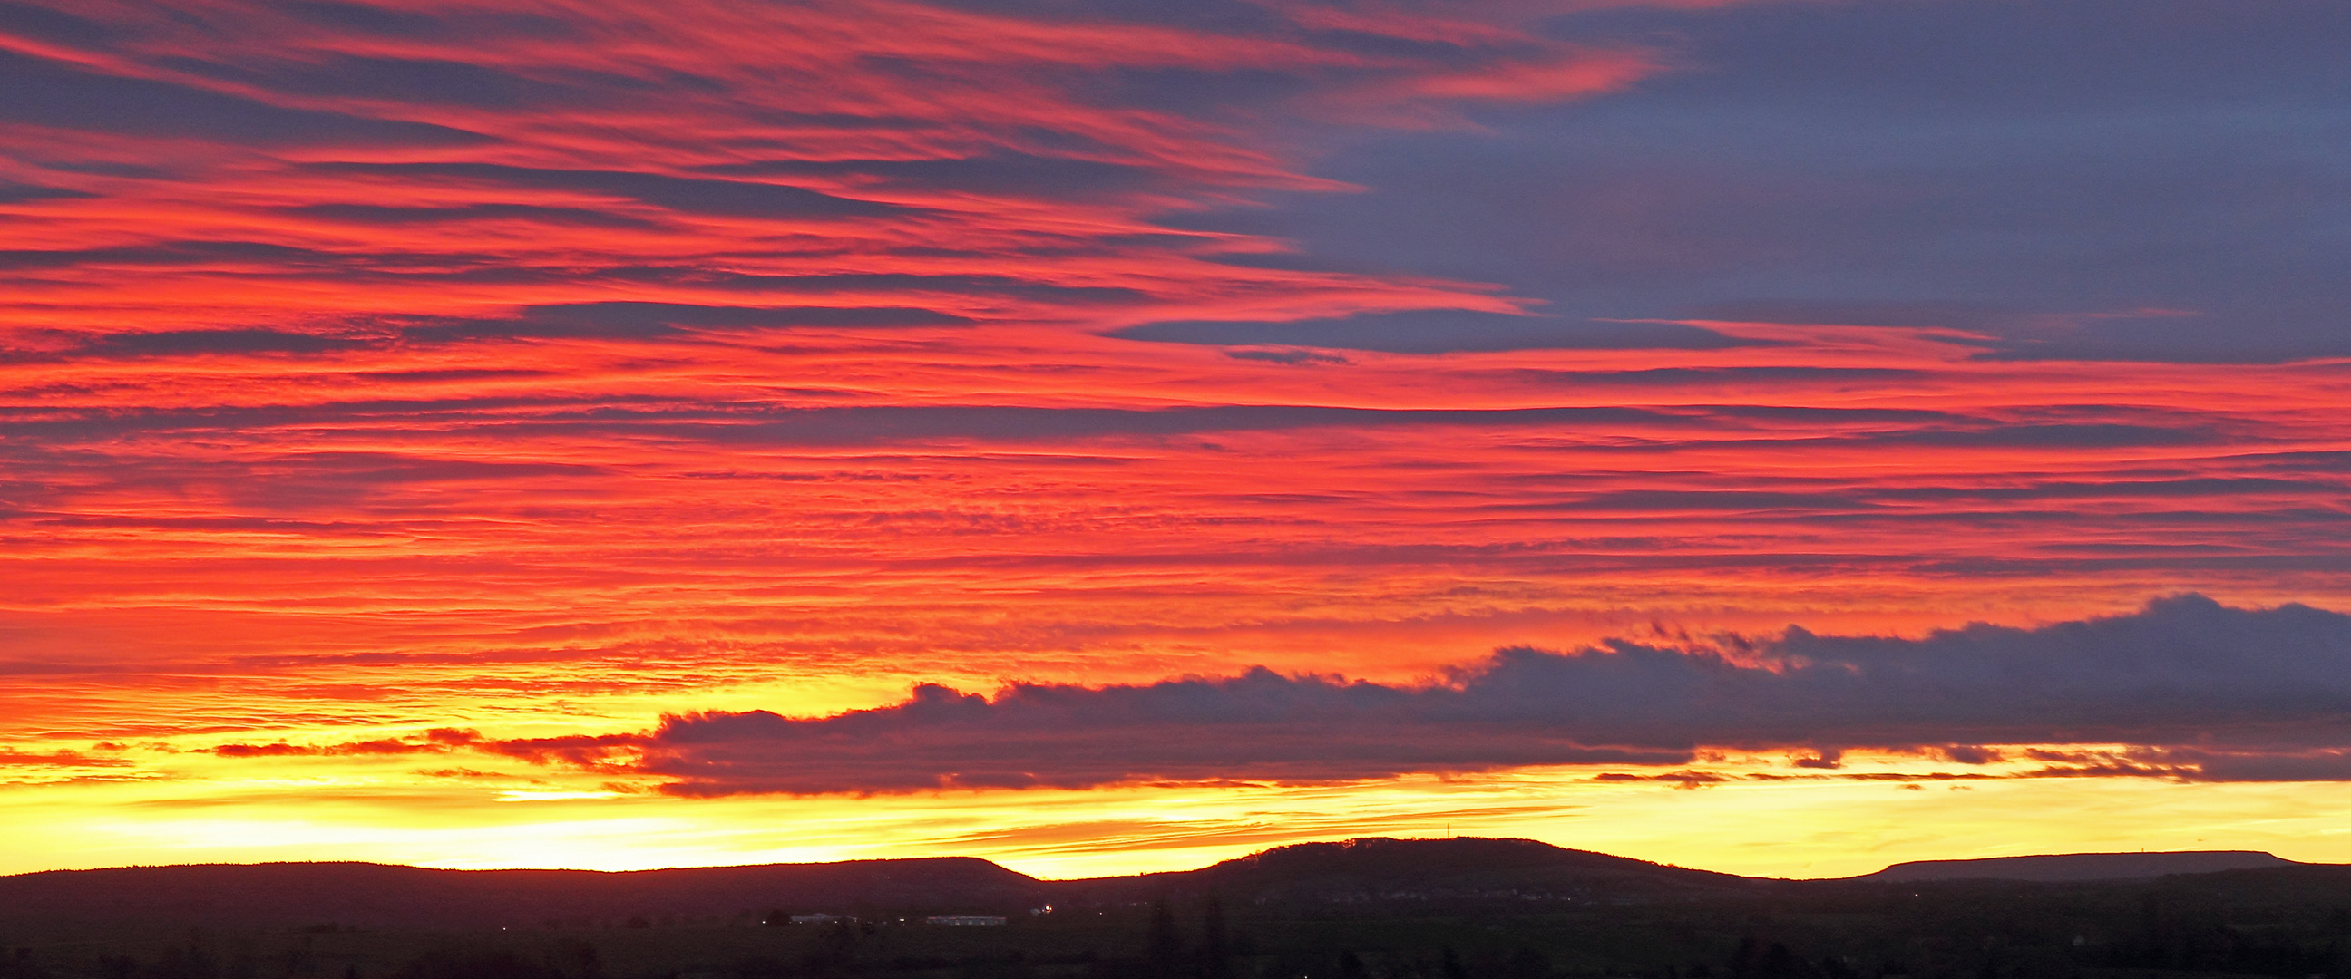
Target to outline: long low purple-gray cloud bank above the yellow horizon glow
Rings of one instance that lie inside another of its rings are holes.
[[[2177,596],[1925,639],[1789,629],[1723,648],[1509,648],[1420,688],[1267,669],[1013,683],[994,697],[922,686],[903,704],[828,718],[672,716],[628,742],[642,754],[628,768],[672,779],[670,794],[724,796],[1679,765],[1700,747],[1806,747],[1815,770],[1862,747],[2001,761],[1984,744],[2144,747],[2038,751],[2038,775],[2351,777],[2351,615]]]

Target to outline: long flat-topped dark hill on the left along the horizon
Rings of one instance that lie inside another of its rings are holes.
[[[1027,909],[1041,883],[973,857],[665,871],[190,864],[0,878],[0,923],[501,927],[743,911]]]

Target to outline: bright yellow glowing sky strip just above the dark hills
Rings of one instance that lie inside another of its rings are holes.
[[[1871,761],[1848,770],[1869,770]],[[1740,765],[1733,765],[1740,768]],[[1909,765],[1918,770],[1923,765]],[[1622,768],[1617,768],[1622,770]],[[1730,768],[1726,768],[1730,770]],[[1596,768],[1326,786],[1126,786],[905,796],[661,798],[592,789],[430,789],[247,779],[0,796],[42,838],[0,871],[362,859],[447,869],[632,871],[985,857],[1041,878],[1180,871],[1284,843],[1519,836],[1744,876],[1831,878],[1907,859],[2092,850],[2269,850],[2351,862],[2351,786],[2005,777],[1977,782],[1592,782]],[[480,805],[484,794],[503,805]]]

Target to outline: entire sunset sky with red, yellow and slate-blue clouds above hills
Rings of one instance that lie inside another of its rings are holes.
[[[2346,49],[0,2],[0,873],[2351,862]]]

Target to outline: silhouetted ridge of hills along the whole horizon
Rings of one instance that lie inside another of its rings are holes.
[[[176,923],[221,927],[480,930],[550,923],[682,923],[771,911],[1025,913],[1161,894],[1251,904],[1354,902],[1686,902],[1911,880],[2128,880],[2243,869],[2320,869],[2266,852],[2118,852],[1895,864],[1843,880],[1693,871],[1538,840],[1448,838],[1300,843],[1197,871],[1039,880],[976,857],[661,871],[440,871],[393,864],[190,864],[0,878],[0,925]],[[110,927],[110,925],[108,925]]]

